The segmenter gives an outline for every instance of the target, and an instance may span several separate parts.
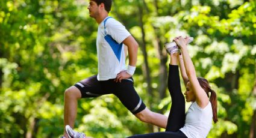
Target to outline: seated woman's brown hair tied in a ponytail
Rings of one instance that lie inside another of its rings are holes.
[[[209,92],[211,92],[210,96],[210,102],[211,102],[211,108],[213,109],[213,122],[216,123],[218,121],[217,118],[217,94],[213,89],[211,89],[209,82],[207,79],[204,79],[203,77],[198,77],[198,82],[202,89],[206,92],[207,96],[209,97]]]

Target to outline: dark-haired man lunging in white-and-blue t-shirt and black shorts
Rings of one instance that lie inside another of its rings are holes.
[[[125,26],[108,17],[111,4],[111,0],[90,0],[88,7],[90,17],[93,17],[99,25],[96,40],[98,74],[81,80],[66,89],[64,125],[73,128],[78,99],[114,94],[140,121],[166,128],[167,117],[146,108],[134,89],[132,76],[136,69],[138,44],[130,32],[125,29]],[[117,45],[118,47],[116,47]],[[128,48],[129,65],[127,69],[124,45]],[[70,127],[66,127],[66,131],[70,132],[69,137],[85,137],[83,133],[70,131]],[[64,131],[64,137],[68,136],[66,131]]]

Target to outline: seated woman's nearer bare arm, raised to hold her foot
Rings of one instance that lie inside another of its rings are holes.
[[[187,77],[189,78],[189,82],[192,85],[192,90],[196,96],[196,103],[201,108],[204,108],[209,103],[207,94],[204,89],[200,86],[198,79],[196,77],[196,70],[193,65],[193,62],[189,56],[189,52],[187,51],[186,40],[183,37],[175,38],[174,41],[181,49],[181,54],[183,55],[184,67],[186,70]]]

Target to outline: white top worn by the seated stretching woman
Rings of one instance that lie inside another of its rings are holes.
[[[193,102],[187,110],[185,125],[180,130],[191,138],[207,137],[211,130],[213,111],[211,103],[202,109],[196,102]]]

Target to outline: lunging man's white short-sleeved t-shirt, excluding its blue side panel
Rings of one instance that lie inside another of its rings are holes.
[[[105,40],[105,31],[106,34],[111,35],[111,37],[119,44],[131,35],[130,32],[125,29],[125,26],[111,17],[105,22],[104,29],[104,20],[98,26],[96,40],[98,53],[98,80],[114,79],[120,71],[126,70],[124,44],[122,44],[119,59],[110,44]]]

